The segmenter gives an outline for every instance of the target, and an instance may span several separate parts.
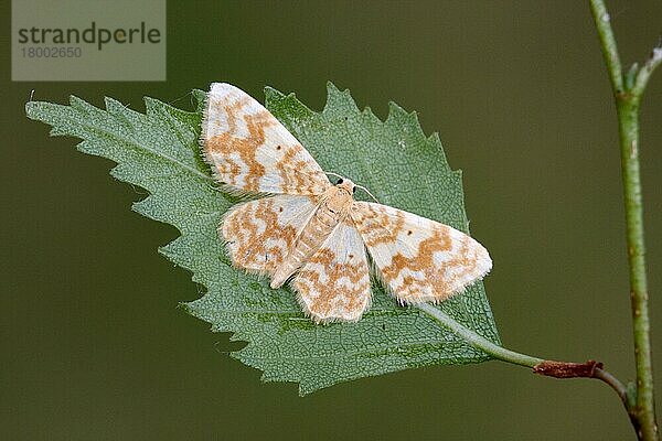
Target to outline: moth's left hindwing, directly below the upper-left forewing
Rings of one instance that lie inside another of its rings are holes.
[[[221,234],[234,266],[273,275],[314,208],[313,198],[296,195],[264,197],[233,207],[223,218]]]

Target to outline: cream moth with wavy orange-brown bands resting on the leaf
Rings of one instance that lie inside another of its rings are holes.
[[[370,308],[367,252],[402,304],[444,301],[492,268],[487,249],[455,228],[355,201],[351,180],[332,184],[267,109],[229,84],[211,86],[201,144],[224,190],[264,196],[223,217],[218,230],[233,265],[268,276],[274,289],[291,279],[318,323],[355,322]]]

